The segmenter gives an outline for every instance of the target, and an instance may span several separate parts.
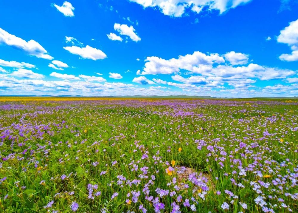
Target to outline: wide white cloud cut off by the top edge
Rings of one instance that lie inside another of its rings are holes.
[[[158,8],[164,15],[180,17],[185,13],[185,9],[190,8],[195,13],[205,10],[219,10],[220,13],[235,8],[240,4],[245,4],[251,0],[129,0],[141,4],[144,8]]]

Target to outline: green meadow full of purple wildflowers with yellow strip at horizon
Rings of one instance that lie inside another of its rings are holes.
[[[298,212],[294,100],[0,98],[0,212]]]

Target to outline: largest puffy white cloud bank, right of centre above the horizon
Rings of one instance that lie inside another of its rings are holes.
[[[231,53],[231,52],[230,52]],[[233,52],[226,57],[232,64],[246,63],[246,55],[237,55]],[[235,56],[236,55],[236,56]],[[221,77],[222,80],[232,81],[233,79],[258,78],[260,80],[282,79],[294,75],[293,70],[279,69],[275,67],[248,64],[247,66],[231,66],[222,64],[225,62],[218,53],[206,55],[201,52],[194,52],[192,55],[179,56],[178,59],[165,60],[156,56],[147,57],[143,71],[138,70],[137,75],[156,74],[177,74],[181,70],[188,71],[186,74],[199,74],[203,77]],[[209,81],[209,80],[208,80]],[[218,81],[218,80],[216,80]],[[184,81],[186,82],[186,81]],[[215,81],[210,80],[209,83]]]

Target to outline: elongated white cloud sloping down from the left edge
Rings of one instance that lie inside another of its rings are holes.
[[[2,28],[0,28],[0,44],[1,43],[24,50],[29,55],[34,55],[37,58],[45,58],[49,60],[53,59],[53,57],[50,56],[44,47],[42,47],[38,42],[34,40],[25,41],[22,38],[7,33]]]

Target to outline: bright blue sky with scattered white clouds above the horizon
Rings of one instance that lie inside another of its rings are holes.
[[[0,4],[0,95],[298,96],[297,0]]]

